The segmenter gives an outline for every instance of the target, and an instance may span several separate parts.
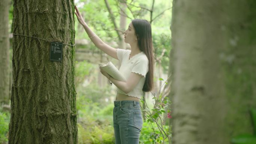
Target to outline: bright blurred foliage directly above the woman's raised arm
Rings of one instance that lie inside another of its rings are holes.
[[[109,4],[115,13],[116,7],[113,7],[114,3],[113,0],[109,1]],[[90,28],[95,31],[95,33],[103,40],[110,41],[118,41],[117,34],[113,28],[113,23],[109,18],[109,13],[107,11],[105,2],[101,1],[88,1],[88,0],[80,0],[76,3],[79,7],[79,10],[85,19],[85,22],[90,26]],[[117,16],[116,16],[117,17]],[[79,22],[76,19],[75,22],[76,31],[78,30]],[[81,31],[82,33],[76,33],[77,39],[89,39],[87,34],[84,30]]]

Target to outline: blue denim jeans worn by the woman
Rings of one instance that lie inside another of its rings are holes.
[[[142,115],[138,101],[114,101],[113,122],[115,144],[138,144]]]

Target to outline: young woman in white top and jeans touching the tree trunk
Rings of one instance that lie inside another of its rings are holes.
[[[88,27],[76,6],[75,9],[77,19],[91,41],[97,48],[120,61],[119,71],[127,79],[127,82],[121,82],[100,70],[118,88],[113,108],[115,143],[138,144],[143,123],[140,97],[143,91],[149,92],[153,88],[151,25],[144,19],[132,20],[124,32],[124,41],[131,46],[131,50],[115,49],[104,43]]]

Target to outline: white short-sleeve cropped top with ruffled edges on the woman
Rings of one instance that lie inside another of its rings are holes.
[[[123,74],[127,80],[129,79],[131,73],[137,73],[143,77],[141,77],[135,88],[128,94],[119,88],[117,88],[117,92],[136,98],[141,98],[142,88],[146,80],[146,74],[149,71],[149,60],[144,52],[140,52],[129,59],[130,53],[131,50],[128,49],[117,49],[117,56],[121,63],[121,67],[119,68],[120,73]]]

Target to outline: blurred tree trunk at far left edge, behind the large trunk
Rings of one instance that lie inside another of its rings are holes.
[[[9,7],[10,0],[0,3],[0,106],[9,101]]]

